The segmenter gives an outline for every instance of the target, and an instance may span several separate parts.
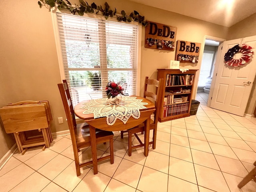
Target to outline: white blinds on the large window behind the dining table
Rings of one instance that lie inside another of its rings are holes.
[[[57,20],[73,104],[106,97],[109,81],[136,94],[138,26],[63,13]]]

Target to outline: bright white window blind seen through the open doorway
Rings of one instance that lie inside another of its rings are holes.
[[[205,87],[206,82],[210,80],[211,70],[212,70],[212,62],[214,58],[214,51],[204,51],[202,64],[200,69],[200,76],[198,81],[198,87]]]

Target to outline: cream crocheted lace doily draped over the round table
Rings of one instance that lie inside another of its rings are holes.
[[[146,109],[144,105],[147,104],[136,97],[122,96],[121,103],[117,105],[111,105],[108,98],[101,98],[84,103],[81,109],[86,109],[83,114],[93,113],[94,118],[106,117],[107,124],[113,125],[117,119],[126,124],[130,116],[135,119],[140,118],[140,109]]]

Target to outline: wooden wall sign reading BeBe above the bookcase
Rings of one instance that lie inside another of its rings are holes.
[[[197,63],[200,53],[200,43],[177,41],[176,60],[181,63]]]

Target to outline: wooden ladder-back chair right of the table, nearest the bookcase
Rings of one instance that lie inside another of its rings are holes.
[[[155,86],[157,88],[156,94],[153,92],[147,91],[148,85]],[[148,77],[145,78],[145,86],[144,86],[144,98],[152,98],[156,103],[156,110],[154,111],[154,120],[150,121],[150,130],[153,130],[153,139],[149,144],[152,144],[153,149],[156,148],[156,131],[157,131],[157,122],[158,122],[158,116],[159,116],[159,110],[160,110],[160,104],[161,104],[161,98],[163,94],[163,87],[164,87],[164,80],[159,79],[149,79]],[[144,123],[128,129],[126,131],[121,131],[121,138],[124,137],[124,132],[128,132],[128,155],[132,155],[132,150],[144,146],[144,143],[140,140],[137,133],[144,132]],[[139,145],[132,146],[132,134],[135,135],[137,140],[140,142]]]

